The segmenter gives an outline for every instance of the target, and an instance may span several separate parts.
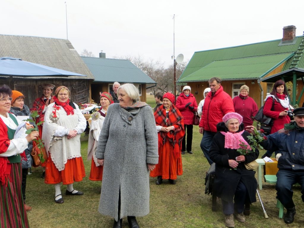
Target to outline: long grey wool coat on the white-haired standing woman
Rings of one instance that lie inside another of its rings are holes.
[[[147,163],[158,163],[157,147],[156,124],[149,105],[130,112],[118,103],[109,106],[96,150],[96,157],[105,159],[98,208],[101,214],[117,221],[149,213]]]

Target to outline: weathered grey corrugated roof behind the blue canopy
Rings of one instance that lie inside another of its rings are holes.
[[[55,67],[65,71],[87,75],[69,76],[71,79],[94,79],[87,65],[82,61],[69,40],[0,34],[0,57],[14,57],[22,60]],[[29,77],[67,78],[67,77]]]

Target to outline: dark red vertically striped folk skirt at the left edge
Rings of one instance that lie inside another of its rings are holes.
[[[29,227],[21,192],[21,163],[12,163],[7,186],[0,185],[1,228]]]

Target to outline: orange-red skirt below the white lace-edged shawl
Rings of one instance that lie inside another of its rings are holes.
[[[45,179],[46,184],[58,184],[64,185],[73,184],[74,181],[82,181],[85,177],[85,166],[83,164],[82,157],[75,157],[68,159],[64,164],[64,170],[59,171],[55,166],[49,154],[45,167]]]

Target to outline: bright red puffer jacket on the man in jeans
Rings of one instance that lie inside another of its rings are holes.
[[[233,101],[221,86],[213,96],[211,91],[207,94],[199,127],[216,132],[216,124],[223,122],[223,116],[228,112],[234,112]]]

